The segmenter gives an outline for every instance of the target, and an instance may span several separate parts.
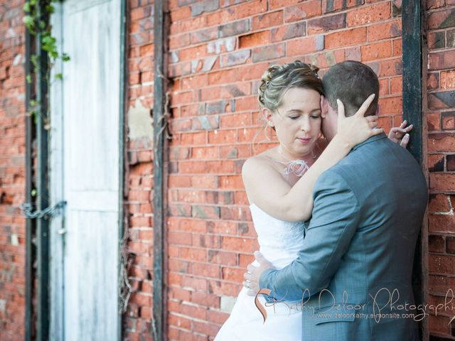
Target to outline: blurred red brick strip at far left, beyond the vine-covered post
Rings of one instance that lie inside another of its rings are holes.
[[[0,1],[0,340],[25,321],[25,31],[21,0]]]

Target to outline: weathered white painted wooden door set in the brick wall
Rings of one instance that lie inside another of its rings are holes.
[[[120,0],[65,0],[50,92],[51,340],[119,340]]]

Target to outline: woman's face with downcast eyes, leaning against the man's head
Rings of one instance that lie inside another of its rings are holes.
[[[321,132],[321,95],[316,90],[293,87],[270,115],[279,144],[289,158],[311,154]]]

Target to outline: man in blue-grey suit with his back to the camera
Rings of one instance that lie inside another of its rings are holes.
[[[323,77],[323,134],[337,131],[337,104],[353,115],[372,93],[365,114],[377,112],[379,82],[367,65],[338,63]],[[326,110],[324,110],[326,109]],[[249,293],[267,288],[280,301],[300,301],[301,340],[419,340],[412,263],[427,206],[427,183],[411,154],[385,134],[358,144],[314,187],[314,210],[298,258],[245,274]],[[270,298],[268,298],[268,301]]]

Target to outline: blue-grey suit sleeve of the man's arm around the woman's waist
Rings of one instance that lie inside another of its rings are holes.
[[[264,271],[259,287],[286,301],[327,288],[359,220],[359,203],[346,180],[333,171],[322,173],[314,186],[313,215],[299,256],[283,269]]]

